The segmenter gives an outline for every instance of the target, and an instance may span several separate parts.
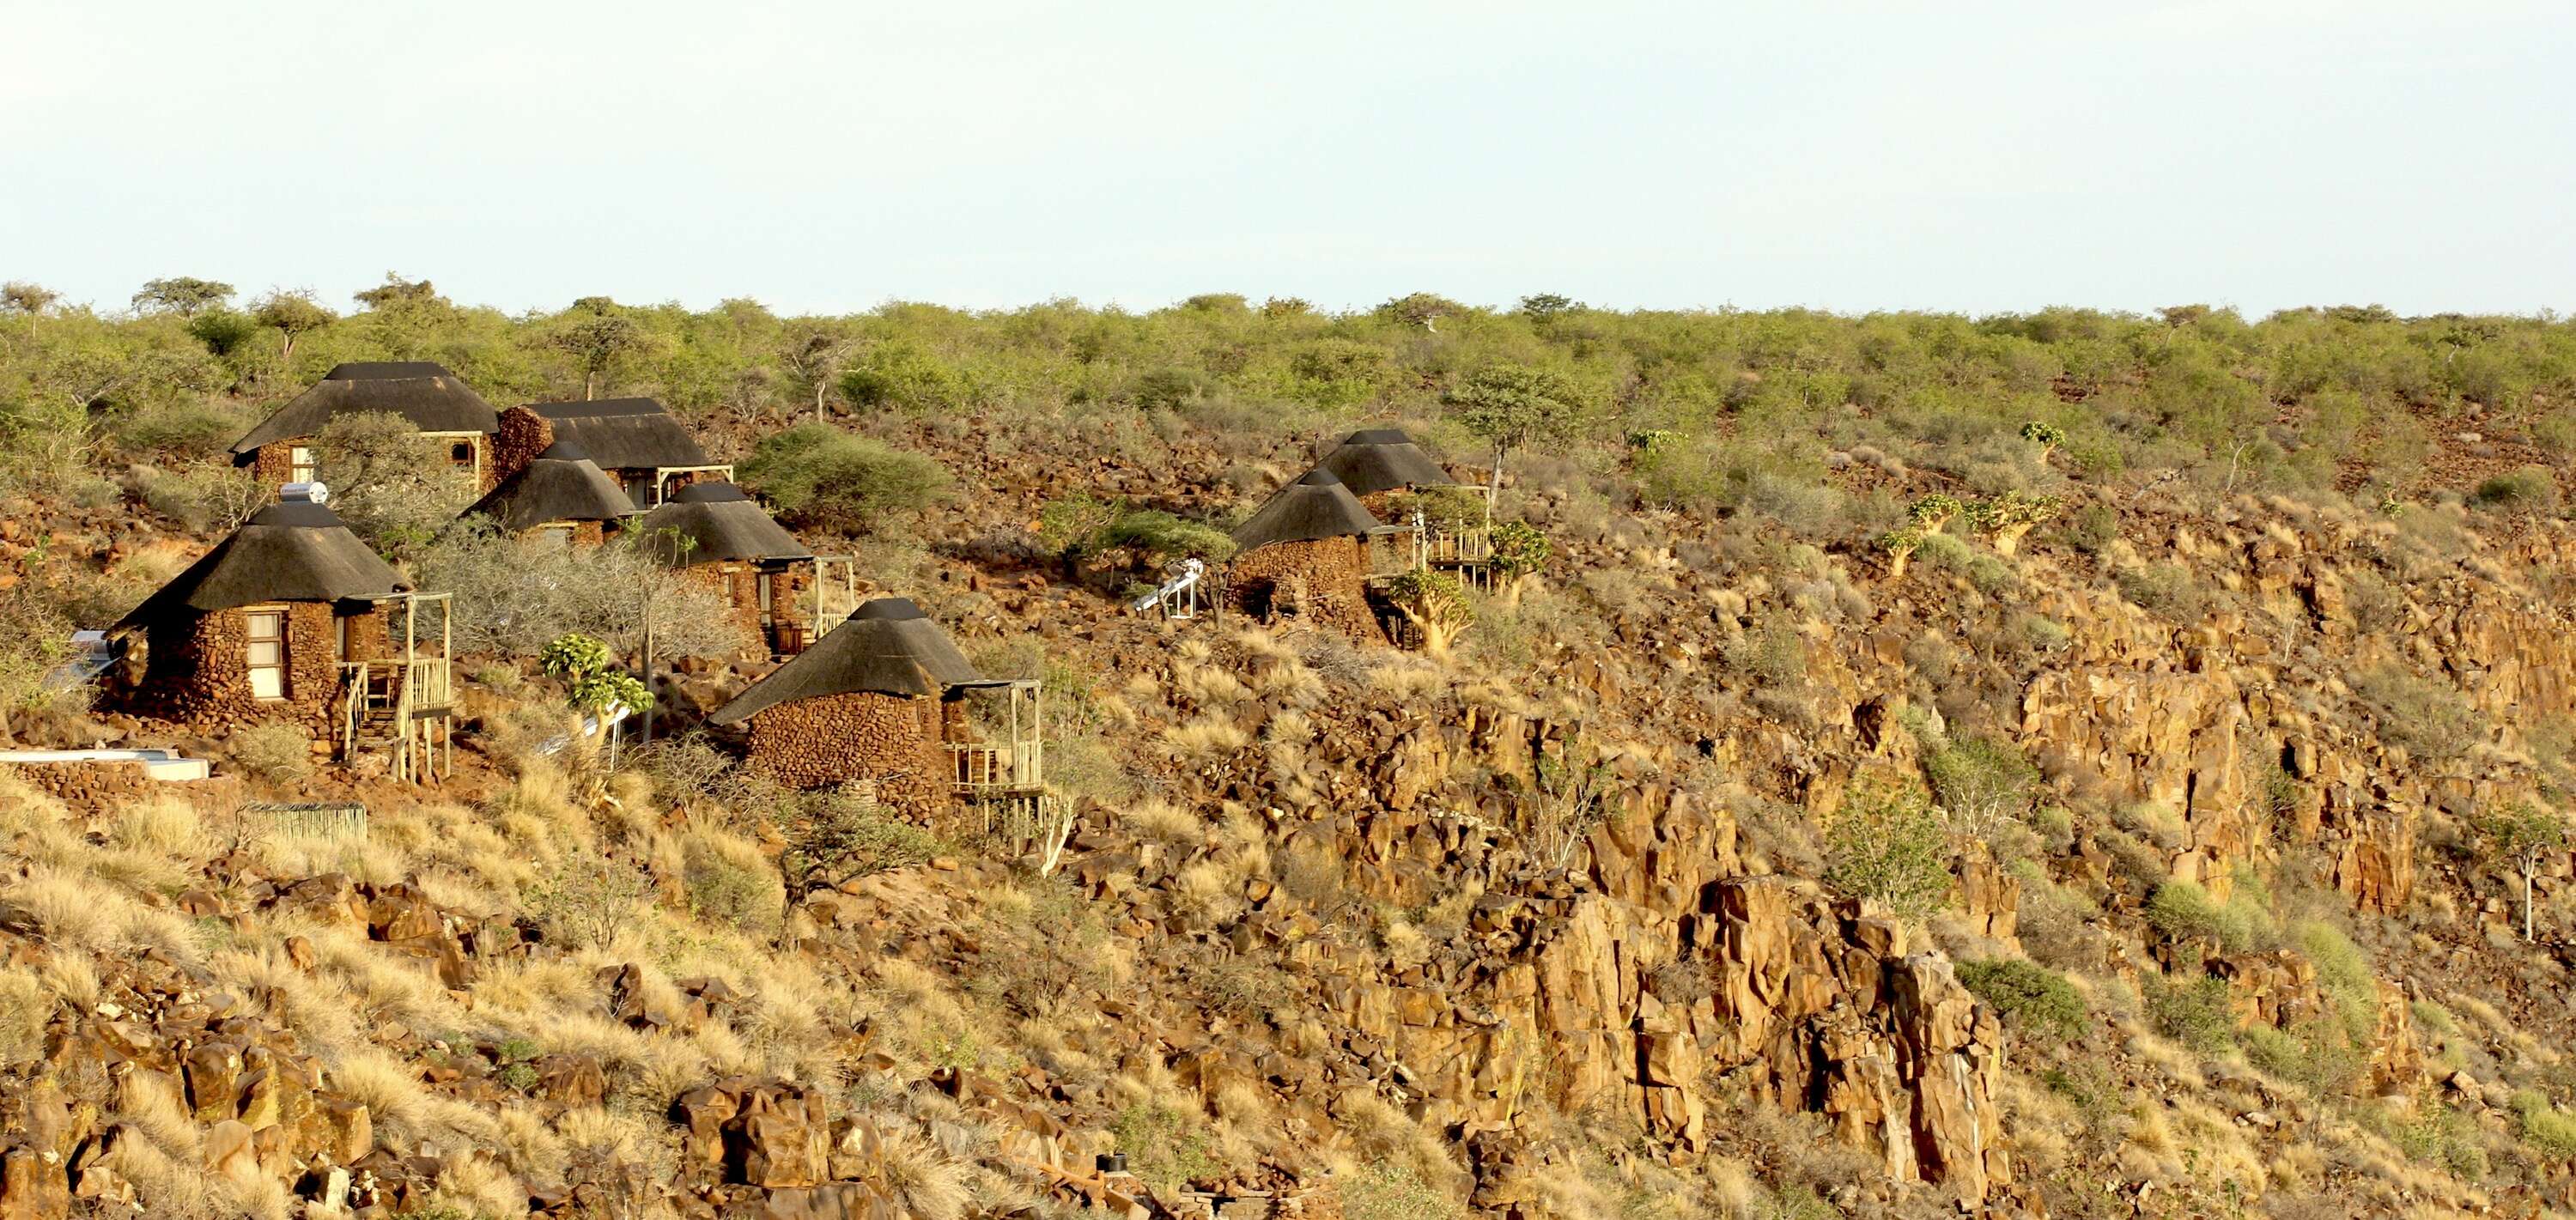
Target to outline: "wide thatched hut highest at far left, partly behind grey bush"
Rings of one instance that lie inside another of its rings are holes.
[[[309,484],[322,458],[314,438],[340,414],[399,414],[422,438],[443,443],[443,456],[474,476],[477,489],[500,481],[492,432],[500,414],[471,386],[433,360],[350,360],[332,365],[304,394],[260,420],[232,443],[232,463],[247,466],[263,486]]]

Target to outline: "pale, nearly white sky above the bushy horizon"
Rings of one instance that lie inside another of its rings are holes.
[[[0,278],[2576,309],[2576,3],[0,0]]]

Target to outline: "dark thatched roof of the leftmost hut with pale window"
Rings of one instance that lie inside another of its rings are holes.
[[[144,597],[118,628],[260,602],[345,602],[407,589],[325,504],[268,504]]]

